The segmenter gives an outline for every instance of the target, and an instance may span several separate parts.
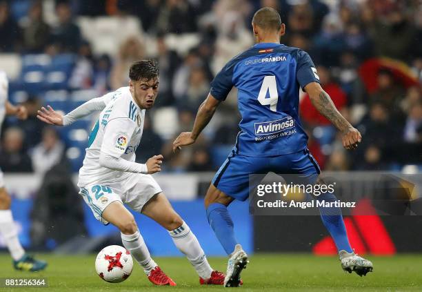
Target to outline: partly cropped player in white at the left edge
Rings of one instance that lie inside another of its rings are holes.
[[[0,130],[6,115],[15,115],[18,119],[28,117],[28,112],[24,106],[13,106],[8,101],[8,86],[6,72],[0,70]],[[10,203],[10,195],[4,186],[3,173],[0,169],[0,233],[3,235],[12,256],[14,269],[32,272],[46,269],[46,262],[35,260],[34,257],[23,250],[21,242],[19,242],[17,228],[13,222]]]

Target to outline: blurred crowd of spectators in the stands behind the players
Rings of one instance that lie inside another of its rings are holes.
[[[194,147],[173,154],[171,144],[181,131],[192,129],[214,75],[253,45],[250,22],[254,11],[263,6],[280,12],[287,28],[281,42],[310,54],[324,90],[363,135],[358,150],[343,150],[339,133],[301,93],[302,123],[321,168],[421,168],[421,1],[0,1],[0,53],[74,54],[77,61],[69,90],[94,88],[98,96],[128,84],[132,61],[157,59],[160,92],[148,112],[137,160],[145,162],[162,153],[164,171],[214,171],[230,153],[239,130],[235,89]],[[139,26],[119,28],[115,54],[96,54],[78,19],[106,15],[122,21],[135,18]],[[178,50],[170,40],[174,34],[193,35],[194,44]],[[390,66],[379,61],[372,71],[361,70],[368,60],[381,57],[395,61]],[[25,104],[28,121],[4,124],[0,167],[6,172],[45,173],[66,157],[67,145],[54,128],[34,117],[43,104],[42,95],[30,95]]]

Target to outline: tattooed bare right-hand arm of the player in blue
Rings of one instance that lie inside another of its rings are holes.
[[[332,124],[343,134],[343,147],[346,149],[355,149],[358,143],[361,142],[362,136],[359,130],[356,130],[347,119],[339,113],[330,95],[325,93],[321,85],[317,82],[311,82],[305,86],[305,91],[308,93],[312,104],[324,117],[329,119]]]

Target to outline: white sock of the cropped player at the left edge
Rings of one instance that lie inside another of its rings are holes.
[[[14,226],[12,211],[0,210],[0,233],[12,255],[13,260],[19,260],[25,254],[19,242],[16,226]]]

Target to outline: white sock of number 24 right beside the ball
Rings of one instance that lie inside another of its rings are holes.
[[[139,231],[132,235],[121,233],[121,242],[123,242],[125,249],[130,251],[130,254],[143,267],[145,274],[150,275],[150,272],[157,266],[157,263],[152,260],[150,251],[148,251]]]

